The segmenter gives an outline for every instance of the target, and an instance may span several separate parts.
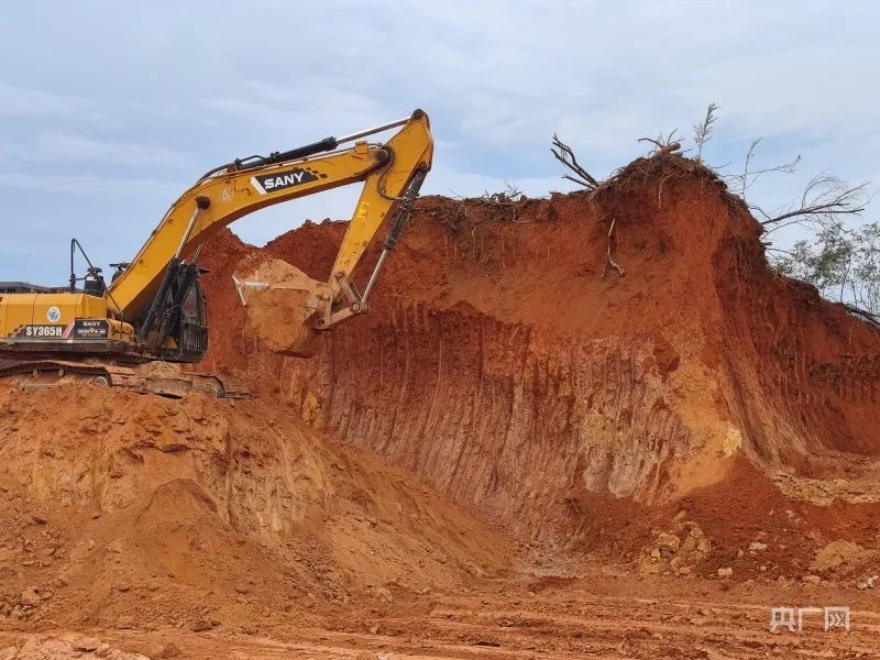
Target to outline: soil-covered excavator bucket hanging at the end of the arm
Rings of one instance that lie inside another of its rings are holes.
[[[232,276],[252,332],[275,353],[310,358],[321,348],[311,326],[330,287],[280,260],[242,264]],[[323,305],[322,305],[323,302]]]

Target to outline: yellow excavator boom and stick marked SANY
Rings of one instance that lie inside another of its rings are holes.
[[[362,140],[398,127],[400,130],[385,143]],[[353,145],[340,148],[348,143]],[[180,288],[182,273],[187,268],[189,276],[197,277],[194,271],[201,248],[218,230],[258,209],[363,182],[329,280],[310,280],[316,329],[328,329],[362,314],[378,270],[431,167],[432,155],[428,116],[416,110],[409,118],[375,129],[211,170],[174,202],[114,279],[107,292],[108,308],[117,318],[140,328],[142,342],[161,344],[166,337],[161,328],[163,306],[173,298],[169,290]],[[358,294],[350,282],[352,273],[389,216],[395,220],[380,258],[363,294]]]

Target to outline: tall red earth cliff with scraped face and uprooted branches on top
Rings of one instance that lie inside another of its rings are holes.
[[[307,223],[262,254],[321,279],[343,231]],[[271,354],[230,304],[254,252],[229,233],[207,251],[210,308],[242,329],[216,332],[207,364],[260,374],[519,538],[635,526],[636,558],[689,501],[727,548],[776,529],[782,505],[818,526],[812,557],[836,534],[814,499],[876,508],[880,334],[773,273],[758,222],[692,161],[637,161],[595,195],[514,211],[420,200],[371,314],[309,361]],[[850,534],[868,534],[865,513]]]

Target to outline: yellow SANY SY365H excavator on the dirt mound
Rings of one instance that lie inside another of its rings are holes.
[[[398,129],[387,142],[365,139]],[[219,397],[242,395],[220,376],[157,369],[198,362],[208,349],[199,256],[218,230],[258,209],[363,183],[358,206],[330,277],[318,282],[301,272],[293,290],[302,314],[289,323],[290,353],[345,319],[367,311],[367,298],[406,223],[431,167],[433,140],[428,116],[410,117],[342,138],[268,156],[250,156],[211,169],[168,209],[138,254],[116,268],[108,286],[74,239],[72,274],[63,288],[0,282],[0,378],[45,387],[69,380],[139,392],[182,396],[201,391]],[[352,282],[370,245],[388,219],[388,233],[359,292]],[[79,278],[74,255],[88,264]],[[260,283],[237,282],[260,289]],[[244,301],[244,298],[242,297]]]

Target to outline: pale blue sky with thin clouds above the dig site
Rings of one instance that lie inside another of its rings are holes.
[[[206,170],[415,108],[436,140],[425,194],[570,190],[553,133],[604,178],[646,153],[639,138],[678,129],[693,146],[710,102],[703,155],[722,173],[757,138],[758,167],[802,158],[750,201],[784,207],[825,170],[880,184],[879,23],[868,0],[14,3],[0,16],[0,279],[66,284],[73,237],[96,263],[128,261]],[[356,188],[232,229],[264,244],[349,218]]]

